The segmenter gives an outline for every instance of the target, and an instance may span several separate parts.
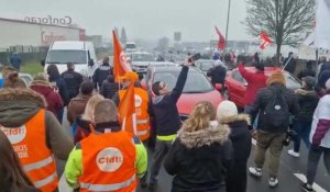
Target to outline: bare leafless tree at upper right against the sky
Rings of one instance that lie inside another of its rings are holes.
[[[276,63],[280,46],[295,46],[304,38],[315,22],[316,0],[246,0],[248,32],[258,36],[261,31],[276,43]]]

